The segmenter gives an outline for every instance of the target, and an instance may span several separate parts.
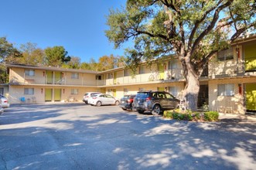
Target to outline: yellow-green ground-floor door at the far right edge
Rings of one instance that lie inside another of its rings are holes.
[[[246,92],[246,110],[256,111],[256,83],[247,83]]]

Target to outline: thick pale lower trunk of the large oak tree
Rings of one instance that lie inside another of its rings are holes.
[[[185,67],[186,87],[183,93],[183,97],[186,98],[186,104],[189,110],[197,110],[198,93],[200,90],[199,76],[196,71],[193,70],[193,66],[190,63],[186,63]]]

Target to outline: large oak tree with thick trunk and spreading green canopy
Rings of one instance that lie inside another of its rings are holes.
[[[106,36],[119,48],[130,39],[127,63],[175,54],[183,65],[183,96],[196,110],[200,75],[209,60],[244,33],[255,32],[254,0],[127,0],[111,10]]]

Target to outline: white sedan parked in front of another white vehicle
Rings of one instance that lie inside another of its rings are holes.
[[[94,94],[88,99],[88,104],[92,106],[101,106],[101,105],[118,105],[119,100],[115,97],[112,97],[110,94],[107,93],[99,93]]]

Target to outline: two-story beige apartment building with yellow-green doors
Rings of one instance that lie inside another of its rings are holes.
[[[234,42],[208,63],[200,77],[199,107],[244,114],[256,111],[256,36]],[[95,72],[50,66],[7,65],[11,104],[82,101],[87,91],[110,93],[121,98],[140,90],[166,90],[177,98],[186,81],[178,59],[166,59],[136,73],[124,67]]]

